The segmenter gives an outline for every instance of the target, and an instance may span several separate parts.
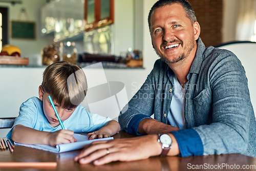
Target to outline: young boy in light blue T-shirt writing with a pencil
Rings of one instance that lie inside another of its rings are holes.
[[[18,143],[55,146],[75,142],[74,132],[92,132],[89,139],[116,134],[120,130],[117,121],[91,114],[79,105],[86,91],[87,79],[79,66],[63,61],[52,63],[44,71],[39,98],[31,97],[20,106],[7,138]],[[61,129],[49,95],[67,130]]]

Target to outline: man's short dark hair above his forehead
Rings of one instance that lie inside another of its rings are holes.
[[[150,13],[148,14],[148,18],[147,18],[148,27],[149,28],[151,27],[151,15],[155,9],[164,7],[166,5],[172,5],[172,4],[180,4],[184,8],[187,14],[187,17],[190,19],[192,24],[194,24],[197,21],[197,17],[195,15],[194,9],[186,0],[159,0],[153,5],[153,7],[150,10]]]

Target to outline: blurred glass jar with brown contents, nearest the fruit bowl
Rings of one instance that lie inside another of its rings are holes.
[[[60,60],[59,47],[56,44],[51,44],[45,47],[42,52],[42,65],[51,65]]]

